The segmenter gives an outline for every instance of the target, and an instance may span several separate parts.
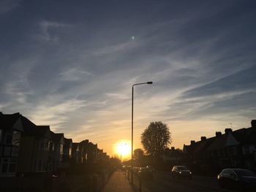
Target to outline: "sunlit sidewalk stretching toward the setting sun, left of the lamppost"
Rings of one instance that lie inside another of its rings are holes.
[[[134,192],[123,172],[116,171],[112,174],[102,192]]]

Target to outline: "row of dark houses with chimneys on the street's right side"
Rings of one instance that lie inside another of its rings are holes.
[[[217,131],[215,137],[201,137],[198,142],[184,145],[183,152],[188,164],[208,166],[214,169],[239,167],[256,170],[256,126],[233,131],[226,128],[225,133]]]

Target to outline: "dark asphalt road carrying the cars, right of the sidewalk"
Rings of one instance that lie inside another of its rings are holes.
[[[219,188],[217,178],[194,176],[192,180],[170,177],[170,173],[156,172],[153,180],[143,181],[143,191],[150,192],[227,192],[230,190]]]

